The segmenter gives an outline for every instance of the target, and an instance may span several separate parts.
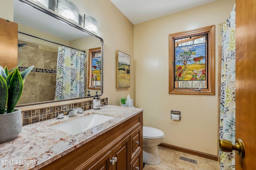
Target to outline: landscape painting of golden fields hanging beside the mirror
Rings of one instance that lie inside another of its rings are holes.
[[[116,88],[129,88],[130,83],[130,55],[116,51]]]

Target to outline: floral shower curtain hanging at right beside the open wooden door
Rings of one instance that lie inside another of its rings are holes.
[[[235,144],[236,133],[236,6],[223,25],[222,70],[220,96],[220,139]],[[220,170],[235,169],[235,151],[220,151]]]

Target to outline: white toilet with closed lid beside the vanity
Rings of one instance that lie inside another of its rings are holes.
[[[143,126],[143,162],[146,164],[160,164],[157,145],[164,139],[164,132],[154,127]]]

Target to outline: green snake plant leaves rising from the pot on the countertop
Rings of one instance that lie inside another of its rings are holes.
[[[25,77],[34,68],[34,66],[30,66],[19,72],[18,67],[22,63],[11,70],[8,70],[6,66],[5,68],[0,66],[0,114],[4,114],[5,109],[6,113],[12,113],[20,100]]]

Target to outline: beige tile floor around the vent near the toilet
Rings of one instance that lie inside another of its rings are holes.
[[[161,163],[158,165],[145,164],[143,170],[220,170],[218,161],[163,147],[158,147],[158,151]],[[180,160],[180,156],[197,160],[197,164]]]

